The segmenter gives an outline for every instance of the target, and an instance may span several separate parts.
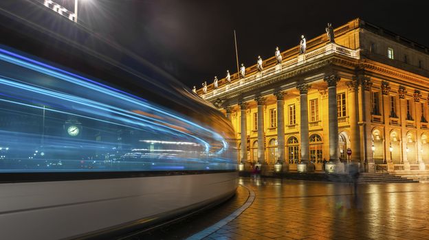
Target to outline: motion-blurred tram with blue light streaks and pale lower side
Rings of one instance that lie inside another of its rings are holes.
[[[225,200],[233,139],[146,60],[36,1],[0,3],[1,239],[116,235]]]

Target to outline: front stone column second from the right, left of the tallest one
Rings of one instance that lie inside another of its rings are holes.
[[[299,84],[296,88],[300,91],[300,145],[301,162],[309,160],[309,128],[308,128],[308,103],[307,93],[311,86],[309,84]]]

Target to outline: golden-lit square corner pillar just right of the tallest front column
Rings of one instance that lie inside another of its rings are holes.
[[[358,81],[347,84],[349,87],[349,116],[350,116],[350,148],[351,160],[360,161],[360,128],[358,106]]]

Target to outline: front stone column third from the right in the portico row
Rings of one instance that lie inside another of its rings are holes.
[[[277,163],[284,165],[282,169],[289,169],[289,161],[285,160],[285,93],[274,93],[277,99]]]

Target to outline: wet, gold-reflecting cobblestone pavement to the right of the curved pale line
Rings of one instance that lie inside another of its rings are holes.
[[[240,182],[254,202],[204,239],[429,239],[429,184]]]

